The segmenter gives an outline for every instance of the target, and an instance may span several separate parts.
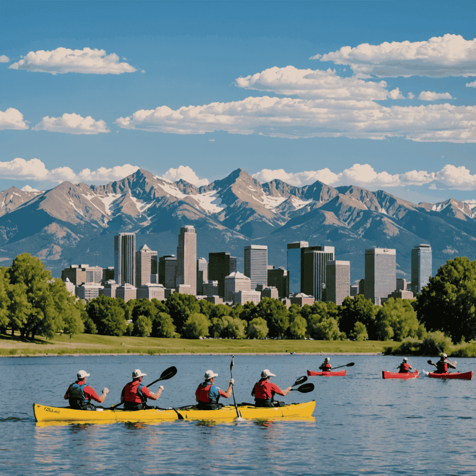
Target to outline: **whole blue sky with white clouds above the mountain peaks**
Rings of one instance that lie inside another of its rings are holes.
[[[474,199],[474,24],[474,2],[3,2],[0,188],[242,167]]]

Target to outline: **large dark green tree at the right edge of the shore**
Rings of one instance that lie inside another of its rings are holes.
[[[476,261],[446,261],[417,295],[415,307],[430,331],[448,333],[455,343],[476,338]]]

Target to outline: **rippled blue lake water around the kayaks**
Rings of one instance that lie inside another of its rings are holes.
[[[193,404],[205,370],[219,374],[225,390],[228,356],[107,356],[1,358],[0,412],[2,475],[476,475],[476,382],[383,380],[399,357],[332,356],[333,366],[355,362],[346,377],[309,377],[314,392],[291,392],[288,403],[317,401],[314,421],[240,422],[207,425],[190,421],[110,425],[36,426],[32,404],[64,407],[63,395],[80,369],[88,385],[110,392],[104,406],[119,402],[132,370],[148,374],[146,385],[164,369],[178,373],[162,382],[160,407]],[[306,370],[318,370],[321,356],[236,356],[237,402],[253,401],[253,384],[263,368],[277,374],[281,388]],[[427,357],[410,359],[431,370]],[[433,359],[435,360],[435,359]],[[460,371],[476,370],[459,359]],[[151,389],[157,391],[160,383]],[[224,403],[225,399],[221,399]],[[228,401],[233,403],[233,398]]]

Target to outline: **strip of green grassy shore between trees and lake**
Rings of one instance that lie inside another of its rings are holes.
[[[111,337],[78,334],[58,335],[53,340],[35,341],[19,336],[0,335],[0,355],[51,354],[262,354],[286,352],[375,353],[383,352],[393,342],[328,340],[234,340],[234,339],[160,339],[155,337]],[[395,343],[397,347],[399,342]]]

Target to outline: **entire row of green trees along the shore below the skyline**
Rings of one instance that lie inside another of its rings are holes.
[[[293,304],[265,297],[258,305],[214,305],[172,294],[166,301],[100,296],[86,306],[51,278],[38,258],[17,256],[0,268],[0,330],[21,337],[57,332],[108,336],[288,338],[422,341],[441,331],[453,342],[476,338],[476,261],[448,260],[416,299],[389,298],[374,306],[363,295],[341,306]],[[128,321],[132,321],[129,323]]]

